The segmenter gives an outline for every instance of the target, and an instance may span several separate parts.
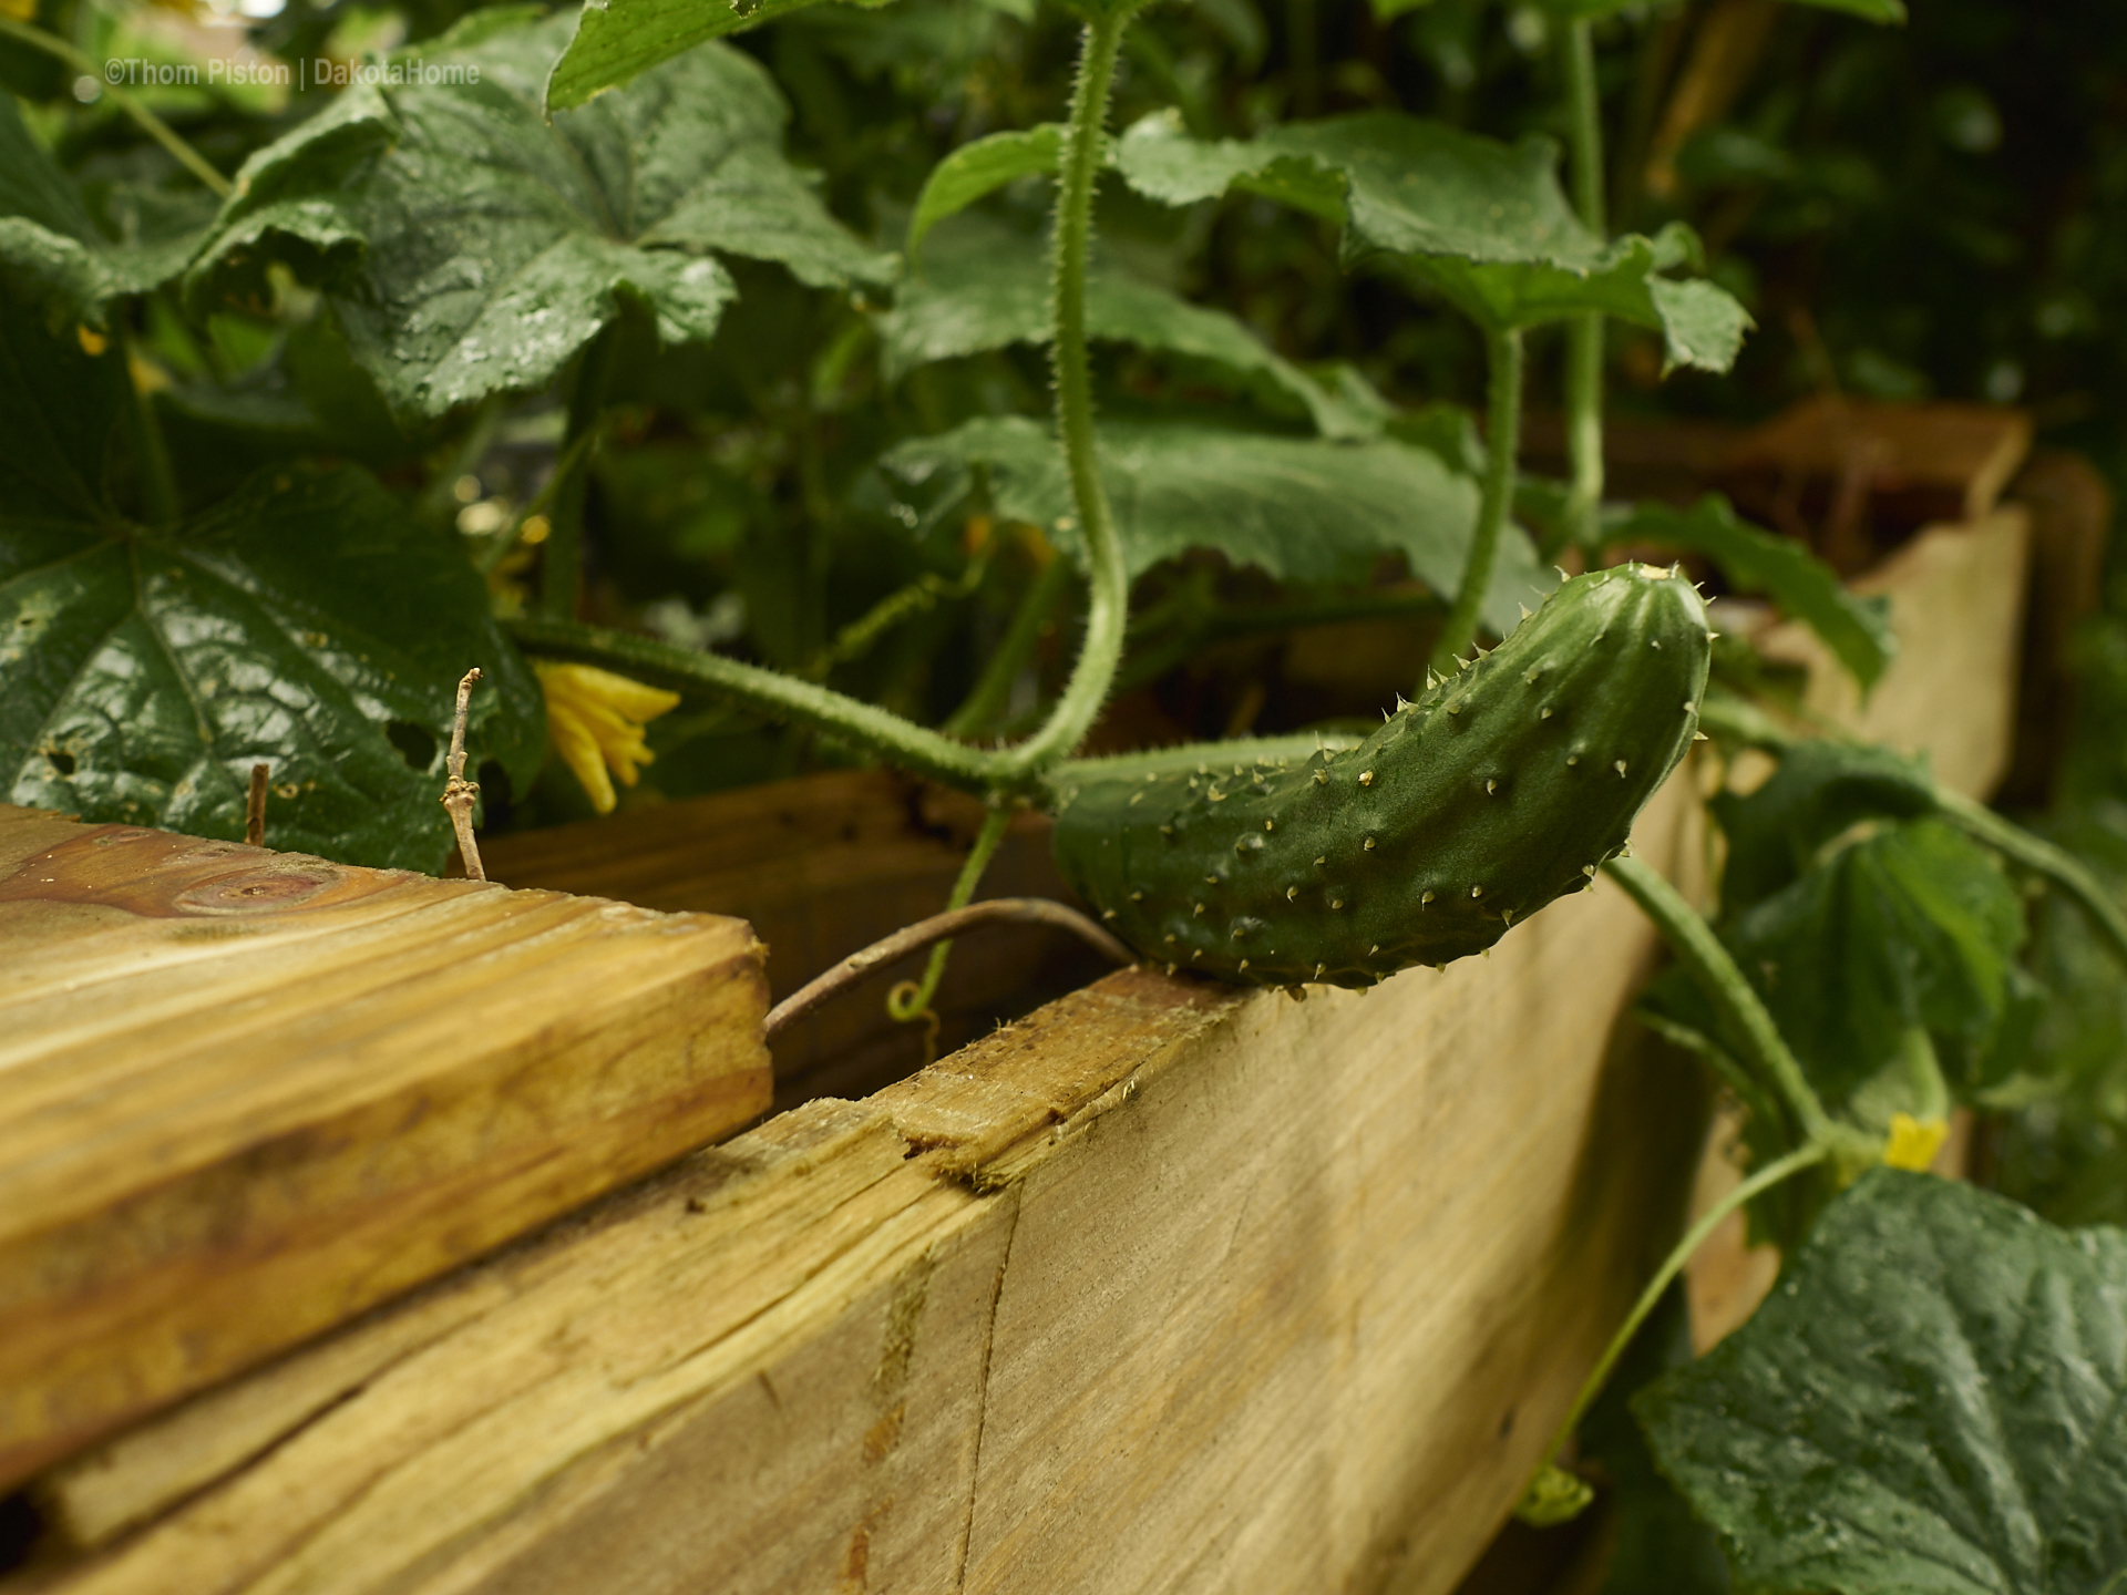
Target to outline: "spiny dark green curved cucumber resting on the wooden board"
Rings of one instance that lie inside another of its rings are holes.
[[[1372,987],[1483,953],[1625,844],[1697,734],[1708,655],[1678,572],[1574,576],[1355,749],[1070,766],[1055,857],[1138,953],[1221,980]]]

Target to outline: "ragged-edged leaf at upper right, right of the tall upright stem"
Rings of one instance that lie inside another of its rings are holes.
[[[1695,259],[1687,228],[1595,238],[1565,202],[1544,138],[1502,145],[1368,111],[1198,142],[1174,119],[1146,117],[1117,147],[1117,168],[1166,204],[1240,187],[1342,221],[1346,259],[1389,257],[1495,328],[1604,310],[1659,328],[1672,366],[1727,370],[1751,325],[1712,283],[1659,274]]]

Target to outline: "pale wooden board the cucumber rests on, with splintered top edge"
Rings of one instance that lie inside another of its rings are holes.
[[[1448,1589],[1680,1214],[1651,957],[1595,889],[1366,995],[1112,974],[47,1476],[162,1516],[6,1589]]]

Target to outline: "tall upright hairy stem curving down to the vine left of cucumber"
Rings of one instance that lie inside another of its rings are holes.
[[[1093,451],[1093,372],[1085,353],[1085,270],[1093,242],[1093,185],[1100,177],[1102,128],[1108,119],[1108,89],[1115,85],[1115,53],[1129,26],[1132,6],[1104,11],[1085,26],[1078,81],[1072,85],[1070,123],[1057,170],[1055,262],[1051,296],[1051,359],[1057,385],[1057,442],[1070,472],[1078,506],[1078,534],[1087,549],[1085,640],[1064,695],[1049,721],[1025,742],[1008,749],[1004,770],[1015,783],[1040,774],[1085,740],[1100,715],[1115,668],[1123,657],[1123,623],[1129,615],[1129,576],[1123,544],[1115,534],[1108,493],[1100,485]]]

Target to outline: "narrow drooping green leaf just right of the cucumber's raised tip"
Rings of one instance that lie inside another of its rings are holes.
[[[1625,519],[1608,521],[1602,540],[1606,547],[1653,542],[1678,553],[1706,555],[1734,589],[1763,593],[1782,612],[1816,632],[1863,691],[1876,685],[1897,653],[1897,636],[1891,632],[1882,600],[1846,591],[1831,566],[1793,538],[1778,538],[1736,519],[1736,510],[1721,493],[1708,493],[1689,510],[1640,504]]]

